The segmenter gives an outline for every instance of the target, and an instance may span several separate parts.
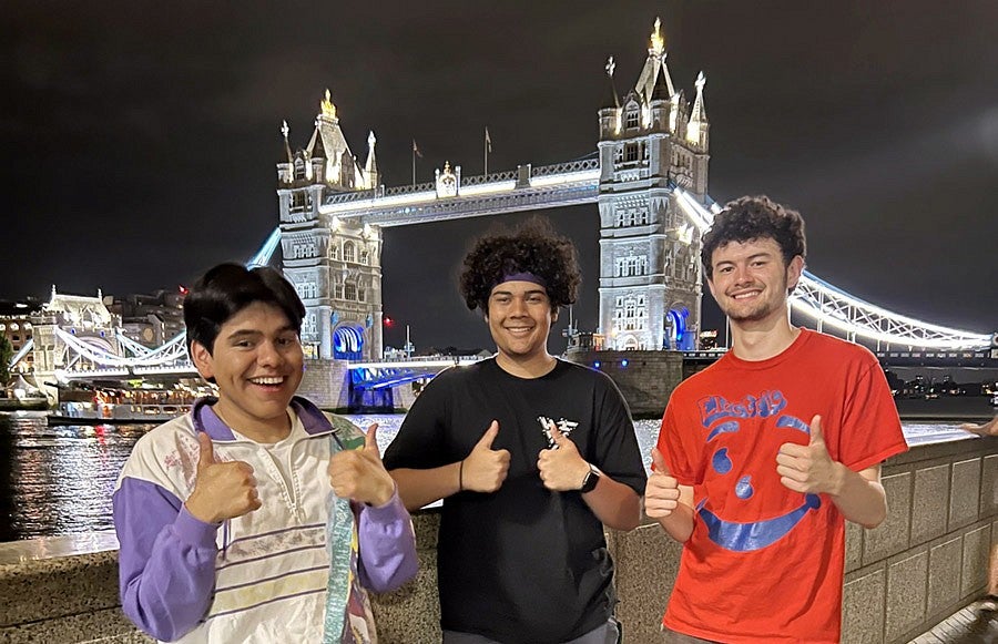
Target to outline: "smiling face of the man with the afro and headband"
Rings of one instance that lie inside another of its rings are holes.
[[[497,361],[507,371],[547,364],[548,334],[558,319],[542,286],[532,282],[503,282],[489,295],[486,320],[498,349]]]

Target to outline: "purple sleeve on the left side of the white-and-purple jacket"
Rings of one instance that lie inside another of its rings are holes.
[[[146,633],[175,640],[211,604],[217,528],[177,510],[162,489],[145,489],[156,485],[123,485],[114,497],[122,610]]]

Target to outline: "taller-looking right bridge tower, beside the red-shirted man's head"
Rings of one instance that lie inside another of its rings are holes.
[[[613,59],[607,63],[610,98],[599,111],[599,324],[607,349],[693,349],[700,331],[700,232],[673,190],[706,198],[706,81],[701,72],[691,109],[665,57],[655,20],[638,83],[622,100]]]

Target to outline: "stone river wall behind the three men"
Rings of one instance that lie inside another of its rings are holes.
[[[998,439],[915,447],[883,474],[887,520],[846,532],[846,643],[896,644],[928,631],[984,594],[988,552],[998,544]],[[434,510],[416,514],[419,575],[374,600],[383,644],[440,641],[438,522]],[[660,641],[680,545],[651,522],[610,531],[608,544],[624,641]],[[118,607],[115,552],[17,561],[4,554],[9,545],[0,549],[0,642],[146,641]]]

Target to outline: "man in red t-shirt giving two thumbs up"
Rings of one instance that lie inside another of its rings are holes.
[[[887,514],[905,451],[867,349],[791,325],[804,222],[766,197],[714,218],[702,260],[732,349],[672,393],[645,511],[683,543],[666,642],[838,642],[845,521]]]

